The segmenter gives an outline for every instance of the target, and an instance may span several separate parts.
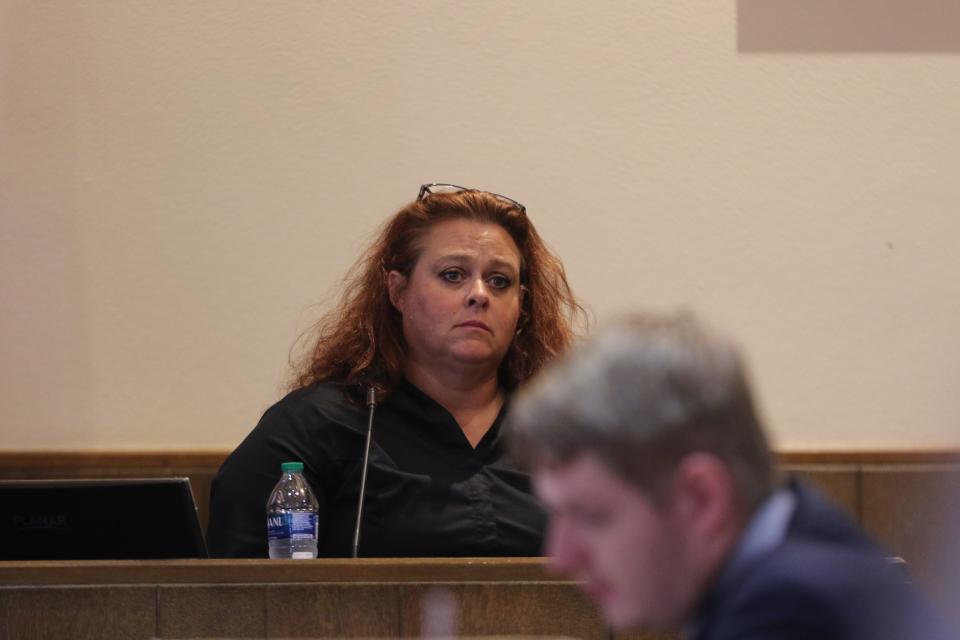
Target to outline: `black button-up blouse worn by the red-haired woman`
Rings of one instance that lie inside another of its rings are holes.
[[[505,454],[506,405],[474,449],[453,416],[410,383],[374,414],[360,556],[535,556],[545,516]],[[321,557],[349,556],[367,408],[334,383],[272,406],[213,479],[213,557],[266,557],[266,505],[280,463],[302,461],[320,503]]]

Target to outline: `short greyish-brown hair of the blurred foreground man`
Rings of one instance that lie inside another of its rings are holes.
[[[598,455],[655,502],[688,454],[730,469],[750,513],[774,465],[737,350],[692,315],[634,315],[541,373],[515,399],[511,448],[528,468]]]

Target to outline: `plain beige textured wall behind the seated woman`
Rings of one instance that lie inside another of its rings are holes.
[[[780,448],[958,444],[960,9],[802,4],[0,0],[0,448],[233,446],[433,180],[738,336]]]

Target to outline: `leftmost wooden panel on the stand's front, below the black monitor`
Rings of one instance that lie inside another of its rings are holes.
[[[145,586],[0,587],[0,638],[152,638],[156,593]]]

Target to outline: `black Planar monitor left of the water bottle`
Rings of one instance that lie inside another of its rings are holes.
[[[0,560],[206,558],[188,478],[0,481]]]

